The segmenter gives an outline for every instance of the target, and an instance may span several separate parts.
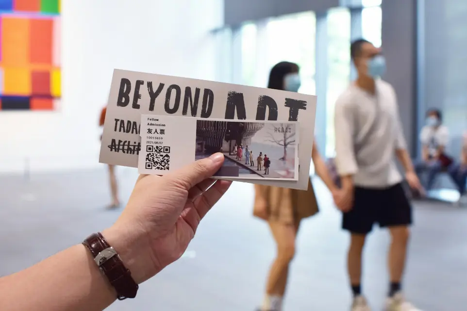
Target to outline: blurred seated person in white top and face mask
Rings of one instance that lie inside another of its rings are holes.
[[[437,109],[428,110],[426,124],[420,132],[422,159],[415,164],[419,178],[426,172],[427,179],[423,184],[426,190],[433,187],[436,175],[452,163],[450,157],[445,154],[448,141],[449,130],[442,124],[441,112]]]

